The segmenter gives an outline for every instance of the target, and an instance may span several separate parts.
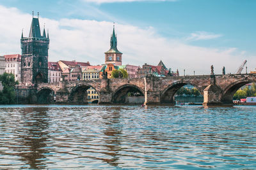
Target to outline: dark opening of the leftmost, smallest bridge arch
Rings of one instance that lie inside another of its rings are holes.
[[[41,87],[36,92],[38,104],[50,104],[55,102],[56,92],[50,87]]]

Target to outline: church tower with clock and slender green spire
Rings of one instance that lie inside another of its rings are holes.
[[[115,25],[113,27],[113,34],[110,39],[110,49],[105,52],[105,64],[114,64],[115,66],[122,65],[122,52],[117,50],[117,39],[115,34]]]

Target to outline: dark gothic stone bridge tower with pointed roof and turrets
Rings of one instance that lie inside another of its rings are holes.
[[[48,81],[49,32],[40,32],[38,17],[33,15],[28,38],[20,39],[21,48],[21,82],[23,85],[35,85]]]

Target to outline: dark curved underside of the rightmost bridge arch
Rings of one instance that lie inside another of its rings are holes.
[[[244,85],[248,83],[256,82],[255,80],[250,79],[243,79],[243,80],[237,80],[233,83],[230,83],[222,92],[221,96],[221,102],[223,104],[233,104],[233,96],[236,93],[238,89],[243,87]]]

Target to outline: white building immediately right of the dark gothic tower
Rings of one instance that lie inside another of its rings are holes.
[[[60,81],[62,71],[58,62],[48,62],[48,83]]]

